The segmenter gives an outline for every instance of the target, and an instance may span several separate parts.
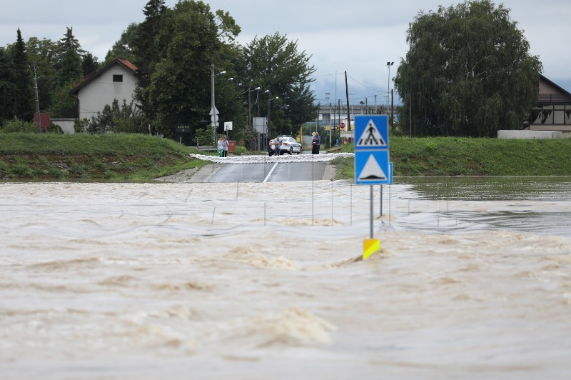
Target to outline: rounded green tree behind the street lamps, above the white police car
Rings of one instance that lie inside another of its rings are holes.
[[[297,134],[304,121],[317,112],[315,96],[310,90],[310,78],[315,68],[310,66],[305,51],[298,51],[297,42],[288,41],[278,33],[257,36],[241,51],[239,70],[242,85],[271,91],[271,135]],[[278,99],[275,99],[278,96]],[[258,99],[259,101],[259,99]],[[267,101],[261,111],[267,114]]]

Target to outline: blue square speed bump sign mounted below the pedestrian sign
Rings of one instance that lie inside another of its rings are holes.
[[[355,153],[355,184],[390,184],[388,151],[360,151]]]

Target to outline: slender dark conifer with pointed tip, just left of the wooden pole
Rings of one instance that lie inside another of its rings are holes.
[[[26,44],[22,40],[20,29],[17,31],[16,44],[12,50],[14,64],[14,116],[24,121],[34,117],[34,79],[28,66]]]

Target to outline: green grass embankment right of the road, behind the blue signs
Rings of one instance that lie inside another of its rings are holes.
[[[395,176],[571,176],[571,139],[391,136],[389,144]],[[353,159],[333,162],[338,179],[355,177]]]

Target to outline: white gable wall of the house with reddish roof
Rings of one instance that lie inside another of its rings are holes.
[[[123,75],[123,81],[113,82],[113,75]],[[97,116],[106,104],[111,106],[113,99],[117,99],[119,106],[123,104],[123,99],[127,101],[127,104],[131,103],[135,94],[135,86],[136,76],[132,71],[120,64],[111,66],[79,90],[79,119],[91,120],[91,116]]]

